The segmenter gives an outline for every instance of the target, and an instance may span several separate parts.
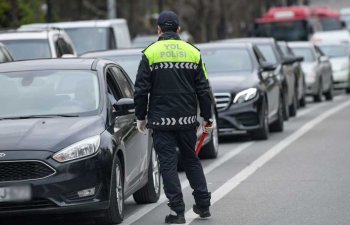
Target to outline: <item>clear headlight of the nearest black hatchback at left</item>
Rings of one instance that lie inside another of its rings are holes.
[[[93,155],[100,146],[100,135],[79,141],[53,155],[57,162],[67,162]]]

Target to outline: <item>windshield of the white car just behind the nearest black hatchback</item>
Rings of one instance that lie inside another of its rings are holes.
[[[47,40],[1,40],[1,42],[9,49],[14,60],[52,58]]]

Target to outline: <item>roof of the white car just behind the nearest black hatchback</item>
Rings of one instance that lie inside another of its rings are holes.
[[[24,39],[47,39],[48,32],[58,32],[53,30],[36,31],[11,31],[0,33],[0,40],[24,40]]]

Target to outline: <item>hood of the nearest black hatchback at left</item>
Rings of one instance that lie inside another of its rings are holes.
[[[57,152],[101,134],[104,127],[100,116],[0,120],[0,151]]]

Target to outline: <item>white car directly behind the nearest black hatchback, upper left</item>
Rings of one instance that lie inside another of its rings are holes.
[[[2,42],[14,60],[76,56],[73,43],[63,30],[31,29],[0,33]]]

